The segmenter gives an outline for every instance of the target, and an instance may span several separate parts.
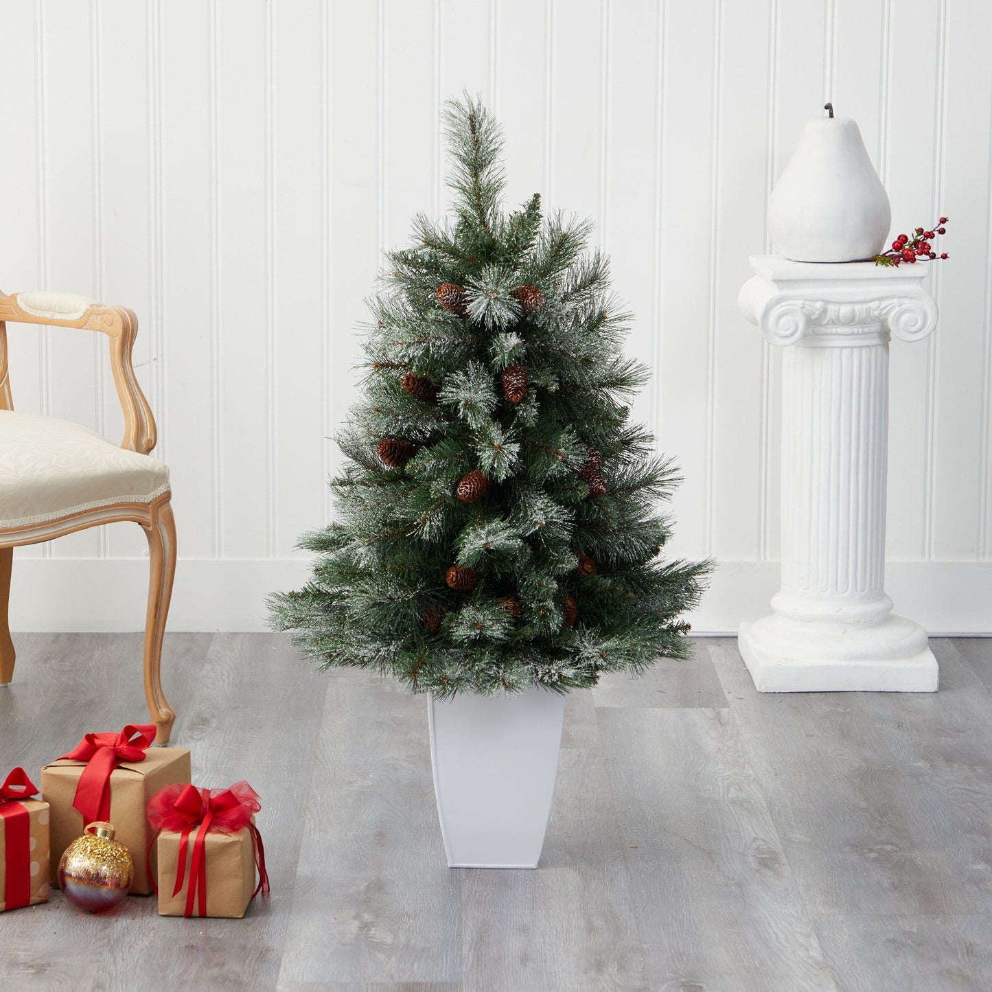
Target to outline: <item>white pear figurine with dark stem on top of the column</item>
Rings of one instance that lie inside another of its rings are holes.
[[[857,262],[882,251],[892,208],[857,124],[849,117],[806,124],[768,203],[776,251],[797,262]]]

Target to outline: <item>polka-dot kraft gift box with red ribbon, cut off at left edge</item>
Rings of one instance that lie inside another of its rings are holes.
[[[0,913],[49,901],[49,805],[23,768],[0,786]]]

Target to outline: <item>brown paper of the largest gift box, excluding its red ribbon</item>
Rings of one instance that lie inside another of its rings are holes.
[[[154,739],[155,728],[151,727]],[[110,735],[87,735],[87,737]],[[78,751],[78,749],[76,749]],[[75,753],[75,752],[70,752]],[[85,761],[60,758],[42,769],[42,797],[52,806],[51,881],[58,887],[57,872],[62,851],[80,836],[86,822],[73,806],[79,779],[86,769]],[[131,892],[147,894],[152,891],[148,877],[148,848],[152,840],[145,810],[155,793],[172,783],[189,782],[189,752],[186,748],[149,747],[140,761],[121,761],[109,777],[109,810],[95,819],[108,819],[114,824],[117,840],[131,852],[134,861],[134,882]]]

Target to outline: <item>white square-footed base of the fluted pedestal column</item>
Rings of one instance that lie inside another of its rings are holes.
[[[742,623],[737,646],[759,692],[935,692],[927,631],[890,615],[836,627],[772,615]]]

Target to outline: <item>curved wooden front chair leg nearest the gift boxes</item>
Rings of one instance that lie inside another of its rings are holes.
[[[145,698],[152,722],[157,727],[155,743],[168,744],[176,713],[162,691],[162,639],[176,574],[176,521],[168,494],[153,503],[151,509],[152,520],[145,527],[151,560],[145,619]]]

